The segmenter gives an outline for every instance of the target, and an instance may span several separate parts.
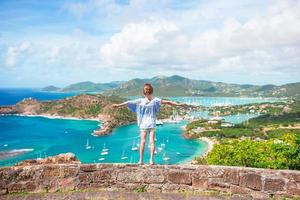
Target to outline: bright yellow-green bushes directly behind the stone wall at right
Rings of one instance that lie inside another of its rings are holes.
[[[206,158],[197,161],[201,164],[299,170],[300,135],[285,133],[266,141],[222,140]]]

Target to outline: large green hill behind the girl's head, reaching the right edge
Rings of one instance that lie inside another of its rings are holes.
[[[249,85],[192,80],[178,75],[153,77],[151,79],[132,79],[119,87],[107,90],[106,95],[137,96],[141,94],[144,83],[154,86],[157,96],[249,96],[249,97],[299,97],[300,82],[276,85]]]

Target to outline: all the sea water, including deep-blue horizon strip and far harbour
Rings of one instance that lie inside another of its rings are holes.
[[[78,93],[40,92],[36,89],[0,89],[0,105],[12,105],[24,98],[46,101],[74,96]],[[275,101],[262,98],[174,97],[172,100],[194,105],[242,105]],[[207,112],[194,116],[210,117]],[[225,120],[240,123],[256,115],[226,116]],[[207,143],[183,137],[182,127],[187,121],[165,123],[156,128],[155,162],[177,164],[203,154]],[[91,120],[50,119],[16,115],[0,116],[0,166],[10,166],[26,159],[45,158],[71,152],[82,163],[137,163],[139,159],[139,130],[136,124],[115,128],[106,136],[93,136],[101,122]],[[149,162],[149,138],[144,162]]]

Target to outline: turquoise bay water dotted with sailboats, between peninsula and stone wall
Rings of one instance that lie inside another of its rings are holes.
[[[156,163],[180,163],[192,159],[195,154],[203,153],[206,150],[204,142],[183,138],[181,126],[184,124],[186,122],[164,124],[157,127]],[[136,124],[116,128],[111,135],[102,137],[91,135],[91,132],[97,127],[98,122],[88,120],[1,116],[0,151],[23,149],[28,152],[10,159],[0,160],[0,166],[64,152],[74,153],[83,163],[136,163],[138,161],[138,151],[132,150],[132,147],[137,147],[139,142],[139,131]],[[87,140],[91,149],[86,149]],[[104,145],[109,149],[108,155],[101,156]],[[149,160],[149,148],[147,147],[148,141],[145,148],[145,162]],[[30,151],[31,149],[32,151]],[[128,158],[121,160],[122,156]],[[105,158],[105,160],[99,160],[99,158]]]

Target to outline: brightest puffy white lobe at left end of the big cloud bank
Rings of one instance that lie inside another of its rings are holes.
[[[164,20],[129,23],[101,47],[100,56],[105,64],[112,66],[136,66],[146,60],[161,59],[166,56],[163,52],[156,54],[156,58],[150,57],[153,48],[176,31],[178,27],[175,24]]]

